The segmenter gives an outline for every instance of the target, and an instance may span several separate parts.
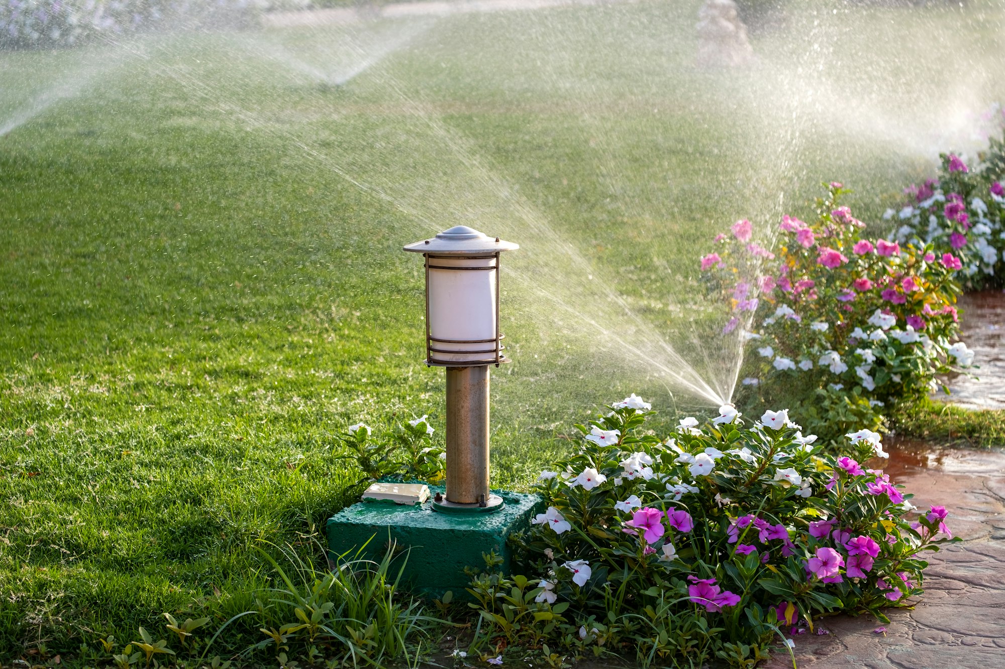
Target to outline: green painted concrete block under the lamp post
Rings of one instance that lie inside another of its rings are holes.
[[[442,488],[438,488],[442,491]],[[433,495],[437,488],[430,488]],[[329,549],[337,555],[356,550],[370,540],[364,555],[381,560],[390,540],[409,547],[405,563],[406,587],[415,593],[442,597],[451,591],[464,599],[470,579],[464,568],[484,569],[481,553],[494,550],[509,570],[507,536],[526,529],[534,514],[544,507],[538,495],[492,490],[501,495],[506,506],[494,513],[442,513],[432,510],[432,502],[417,506],[359,502],[344,508],[328,520]],[[397,575],[406,555],[395,559]]]

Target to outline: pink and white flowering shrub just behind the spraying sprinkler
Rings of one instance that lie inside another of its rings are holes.
[[[701,258],[708,289],[729,304],[725,336],[750,350],[744,384],[795,410],[825,441],[878,429],[883,412],[970,367],[955,306],[961,259],[933,245],[863,236],[837,183],[812,222],[785,216],[777,253],[750,242],[748,221]],[[746,327],[745,327],[746,326]]]

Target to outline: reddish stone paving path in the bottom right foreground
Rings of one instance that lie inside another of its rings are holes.
[[[919,508],[949,509],[963,537],[930,553],[925,596],[914,610],[819,621],[830,634],[795,637],[797,666],[819,669],[1005,669],[1005,452],[890,445],[885,470]],[[885,634],[873,630],[882,626]],[[768,669],[792,667],[776,652]]]

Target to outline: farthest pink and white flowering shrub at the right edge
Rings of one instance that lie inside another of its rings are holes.
[[[1002,119],[1005,120],[1005,113]],[[931,244],[937,254],[959,258],[961,280],[968,287],[1000,284],[1005,270],[1005,133],[992,138],[989,152],[968,166],[956,154],[943,154],[938,179],[904,189],[910,201],[897,220],[901,243]]]

